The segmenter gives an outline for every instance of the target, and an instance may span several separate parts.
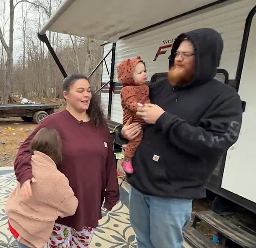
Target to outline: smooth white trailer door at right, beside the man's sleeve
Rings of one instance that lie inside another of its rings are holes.
[[[256,203],[256,17],[250,28],[238,93],[246,102],[238,141],[228,150],[221,187]]]

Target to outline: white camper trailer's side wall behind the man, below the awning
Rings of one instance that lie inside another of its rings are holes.
[[[224,50],[216,78],[238,89],[241,99],[246,104],[246,107],[244,106],[246,110],[243,113],[240,138],[229,149],[225,166],[221,168],[222,165],[219,164],[218,171],[214,172],[218,175],[212,177],[214,182],[208,186],[254,212],[256,212],[256,192],[253,190],[256,189],[256,182],[254,181],[256,166],[253,157],[255,150],[253,144],[256,142],[256,137],[252,133],[256,124],[256,118],[254,118],[256,113],[254,100],[256,85],[254,85],[255,69],[253,69],[256,68],[256,48],[254,47],[256,17],[251,17],[252,14],[249,16],[252,18],[252,22],[248,39],[243,34],[246,35],[249,32],[249,23],[247,21],[246,25],[246,19],[250,11],[255,8],[255,4],[255,0],[227,1],[227,3],[219,4],[215,8],[201,10],[197,14],[180,17],[118,40],[115,45],[114,90],[111,93],[111,106],[109,105],[109,88],[105,87],[101,92],[102,106],[105,113],[109,113],[109,119],[115,123],[122,123],[121,84],[116,76],[118,63],[124,58],[140,55],[146,63],[150,80],[155,73],[164,73],[168,70],[168,56],[172,42],[179,33],[200,27],[212,27],[220,32],[224,40]],[[245,39],[248,42],[247,47]],[[105,54],[109,52],[112,46],[111,43],[105,45]],[[107,65],[111,68],[111,56],[107,58]],[[107,81],[109,81],[109,75],[103,67],[102,83]],[[220,184],[218,189],[215,184],[219,179],[221,181],[218,182]],[[232,192],[233,195],[231,196],[229,192]],[[248,201],[246,202],[244,199]]]

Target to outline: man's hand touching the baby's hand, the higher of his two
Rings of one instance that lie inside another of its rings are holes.
[[[136,115],[146,123],[154,124],[164,113],[164,110],[156,104],[146,103],[143,107],[138,107]]]

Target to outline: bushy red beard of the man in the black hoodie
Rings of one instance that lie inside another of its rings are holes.
[[[185,86],[188,85],[195,75],[193,68],[187,69],[182,67],[177,69],[176,65],[172,66],[168,71],[168,80],[172,86]]]

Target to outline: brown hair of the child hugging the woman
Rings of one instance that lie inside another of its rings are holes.
[[[49,156],[56,164],[62,160],[61,136],[55,129],[40,129],[31,140],[29,152],[39,151]]]

